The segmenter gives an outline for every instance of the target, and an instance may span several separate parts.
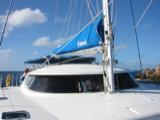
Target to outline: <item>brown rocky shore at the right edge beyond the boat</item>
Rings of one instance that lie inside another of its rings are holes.
[[[145,79],[160,84],[160,65],[152,69],[146,68],[143,72],[139,71],[136,74],[136,79]]]

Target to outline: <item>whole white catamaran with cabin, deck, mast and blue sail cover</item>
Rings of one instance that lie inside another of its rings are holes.
[[[114,67],[109,16],[109,2],[103,0],[103,17],[52,56],[100,50],[101,65],[56,64],[30,72],[20,87],[1,90],[1,119],[159,120],[160,90],[141,89],[127,70]]]

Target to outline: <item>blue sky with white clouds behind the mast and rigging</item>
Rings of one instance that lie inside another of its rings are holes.
[[[52,54],[52,48],[75,35],[90,20],[87,0],[14,0],[4,41],[0,46],[0,71],[23,70],[24,61]],[[101,0],[88,0],[93,16]],[[119,66],[138,69],[138,54],[129,0],[118,1],[115,46]],[[150,0],[132,0],[136,21]],[[10,0],[0,0],[0,31]],[[160,1],[154,0],[137,27],[143,67],[160,64]],[[66,17],[67,16],[67,17]],[[130,36],[126,40],[127,36]]]

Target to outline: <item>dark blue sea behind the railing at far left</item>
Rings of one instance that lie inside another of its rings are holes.
[[[11,86],[19,86],[22,73],[22,71],[0,71],[0,87],[6,86],[6,78],[8,74],[12,76]]]

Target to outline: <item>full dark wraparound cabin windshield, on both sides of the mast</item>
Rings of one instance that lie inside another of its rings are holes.
[[[100,92],[104,90],[102,75],[30,76],[26,82],[31,90],[48,93]],[[128,73],[115,75],[115,88],[137,87]]]

